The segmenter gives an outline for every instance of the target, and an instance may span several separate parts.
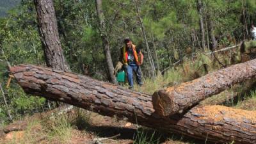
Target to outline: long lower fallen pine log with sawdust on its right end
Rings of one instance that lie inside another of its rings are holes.
[[[256,143],[255,111],[196,106],[184,115],[161,117],[154,113],[152,97],[145,93],[51,68],[19,65],[10,70],[26,93],[214,143]]]

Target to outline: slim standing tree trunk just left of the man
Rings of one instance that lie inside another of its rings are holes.
[[[98,19],[99,19],[100,35],[102,38],[102,46],[104,49],[104,54],[105,54],[106,62],[108,65],[108,76],[110,78],[111,83],[117,84],[116,77],[114,74],[115,69],[113,66],[111,53],[109,50],[109,41],[108,41],[108,36],[107,36],[107,32],[106,32],[104,13],[102,10],[102,0],[95,0],[95,3],[96,3],[97,15],[98,15]]]

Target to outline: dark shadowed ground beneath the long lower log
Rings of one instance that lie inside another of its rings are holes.
[[[93,116],[92,119],[98,119],[97,116]],[[100,115],[99,115],[100,117]],[[98,138],[115,137],[115,140],[132,140],[133,143],[196,143],[196,144],[211,144],[206,140],[196,140],[182,134],[166,134],[166,132],[155,131],[147,127],[139,127],[138,125],[131,124],[129,127],[124,125],[127,122],[113,122],[108,116],[102,116],[100,121],[92,122],[92,119],[84,119],[77,117],[73,124],[76,125],[80,131],[92,132]],[[139,127],[139,128],[137,128]],[[130,142],[132,143],[132,142]]]

